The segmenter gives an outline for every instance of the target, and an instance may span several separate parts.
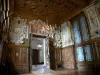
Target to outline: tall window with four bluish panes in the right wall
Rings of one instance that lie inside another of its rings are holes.
[[[73,25],[74,42],[78,61],[92,61],[91,46],[87,44],[90,35],[84,13],[75,16],[71,20],[71,23]]]

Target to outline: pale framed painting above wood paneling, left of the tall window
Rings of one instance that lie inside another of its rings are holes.
[[[62,38],[62,47],[73,45],[70,21],[64,22],[61,25],[61,38]]]

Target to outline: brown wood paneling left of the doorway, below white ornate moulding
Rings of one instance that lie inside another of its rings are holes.
[[[26,47],[8,47],[10,61],[13,63],[16,72],[29,72],[28,48]]]

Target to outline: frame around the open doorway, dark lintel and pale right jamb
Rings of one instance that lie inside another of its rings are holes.
[[[36,34],[31,34],[30,35],[30,41],[32,41],[32,38],[41,38],[43,39],[43,45],[44,48],[44,67],[50,68],[50,59],[49,59],[49,38],[47,36],[42,36],[42,35],[36,35]],[[31,44],[31,42],[30,42]],[[30,71],[32,71],[32,48],[30,47]]]

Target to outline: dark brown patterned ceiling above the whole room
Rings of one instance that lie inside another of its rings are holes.
[[[15,11],[27,18],[59,19],[68,17],[92,0],[15,0]],[[28,15],[28,16],[27,16]]]

